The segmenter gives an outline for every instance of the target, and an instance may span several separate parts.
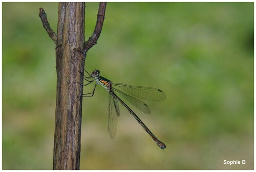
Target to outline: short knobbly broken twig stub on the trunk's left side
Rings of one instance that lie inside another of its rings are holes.
[[[42,26],[46,29],[50,38],[55,42],[55,44],[57,44],[57,36],[55,32],[52,30],[52,28],[50,27],[45,10],[42,8],[39,9],[39,17],[41,18]]]

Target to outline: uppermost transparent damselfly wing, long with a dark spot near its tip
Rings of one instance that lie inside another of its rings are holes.
[[[122,89],[123,91],[125,91],[127,94],[131,96],[136,96],[136,97],[139,97],[140,99],[144,99],[148,101],[163,101],[166,98],[164,92],[157,88],[131,86],[131,85],[121,84],[121,83],[113,83],[113,86]]]

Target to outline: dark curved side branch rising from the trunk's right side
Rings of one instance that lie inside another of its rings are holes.
[[[101,30],[102,30],[103,21],[105,18],[105,10],[106,10],[106,3],[100,3],[94,32],[93,32],[92,36],[88,39],[88,41],[84,42],[84,44],[83,44],[83,53],[84,54],[86,54],[88,52],[88,50],[93,45],[95,45],[97,43],[97,40],[98,40]]]

